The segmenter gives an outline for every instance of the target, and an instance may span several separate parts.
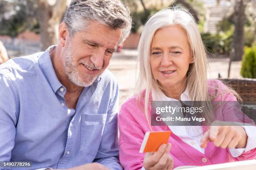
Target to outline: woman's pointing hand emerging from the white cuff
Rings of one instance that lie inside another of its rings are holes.
[[[218,125],[218,126],[216,126]],[[245,148],[248,136],[241,126],[228,126],[226,122],[214,121],[210,129],[201,138],[201,147],[213,142],[221,148]]]

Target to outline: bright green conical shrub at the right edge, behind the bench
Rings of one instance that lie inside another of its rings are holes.
[[[245,47],[240,73],[245,78],[256,78],[256,46]]]

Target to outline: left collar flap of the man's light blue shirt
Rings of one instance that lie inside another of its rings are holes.
[[[49,82],[52,90],[54,93],[62,87],[61,82],[59,82],[54,67],[51,62],[51,57],[49,51],[52,50],[52,48],[55,48],[56,45],[50,46],[44,53],[39,57],[39,67],[41,68],[44,76],[46,77],[46,80]]]

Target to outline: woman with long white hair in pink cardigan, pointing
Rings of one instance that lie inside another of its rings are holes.
[[[205,131],[205,126],[200,126],[199,135],[191,135],[187,126],[151,126],[152,101],[239,99],[222,82],[207,80],[205,47],[195,20],[186,10],[164,9],[148,20],[138,45],[138,64],[136,95],[122,104],[119,113],[120,162],[125,170],[171,170],[256,158],[255,126],[225,125],[224,116],[218,126],[208,126]],[[214,117],[210,106],[206,109],[205,117]],[[222,112],[227,110],[224,107]],[[146,132],[165,130],[172,131],[167,145],[154,153],[139,153]]]

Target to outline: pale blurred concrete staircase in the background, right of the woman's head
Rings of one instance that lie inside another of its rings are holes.
[[[228,5],[205,5],[205,25],[204,32],[215,34],[217,32],[217,24],[223,20],[232,10],[232,6]]]

